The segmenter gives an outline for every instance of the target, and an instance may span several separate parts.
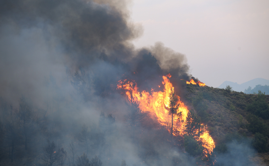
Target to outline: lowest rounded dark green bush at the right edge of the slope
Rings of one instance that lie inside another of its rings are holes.
[[[256,133],[254,136],[253,146],[258,150],[258,152],[268,152],[269,143],[268,138],[262,135],[261,133]]]

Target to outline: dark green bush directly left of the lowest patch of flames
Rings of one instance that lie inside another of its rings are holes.
[[[184,147],[192,156],[201,155],[203,152],[203,146],[199,145],[192,136],[184,135]]]

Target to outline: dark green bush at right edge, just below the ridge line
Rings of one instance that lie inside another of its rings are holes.
[[[257,99],[247,106],[247,111],[263,119],[269,119],[269,104],[266,101],[266,95],[259,90]]]

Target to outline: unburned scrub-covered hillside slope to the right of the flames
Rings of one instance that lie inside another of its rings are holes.
[[[207,124],[216,143],[215,153],[225,154],[232,141],[247,142],[259,152],[256,157],[262,156],[269,164],[269,95],[186,85],[185,99]],[[255,111],[256,108],[259,110]]]

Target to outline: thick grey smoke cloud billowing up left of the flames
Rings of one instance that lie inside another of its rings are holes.
[[[41,115],[50,119],[42,123],[44,129],[40,123],[45,134],[38,146],[58,140],[68,150],[83,124],[91,134],[100,134],[95,130],[101,128],[104,112],[116,122],[112,133],[95,136],[105,141],[93,139],[91,148],[107,165],[122,159],[130,165],[194,165],[192,157],[168,148],[160,131],[139,127],[137,142],[130,138],[117,81],[128,77],[149,91],[161,85],[162,75],[177,80],[190,75],[186,57],[164,44],[135,49],[131,42],[143,28],[130,22],[129,5],[120,0],[0,1],[0,96],[15,108],[25,96],[37,111],[36,121]],[[85,151],[84,144],[75,147],[77,156]]]

